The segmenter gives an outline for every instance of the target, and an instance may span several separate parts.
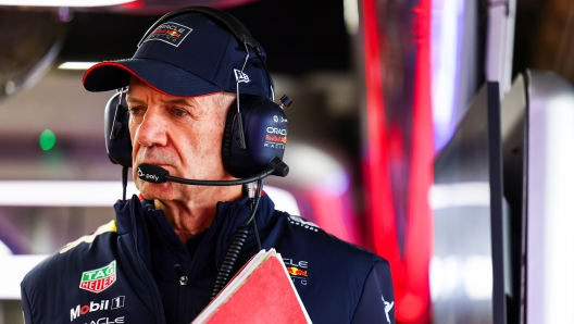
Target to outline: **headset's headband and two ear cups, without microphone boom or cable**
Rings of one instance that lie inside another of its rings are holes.
[[[273,101],[271,75],[265,67],[261,50],[249,30],[234,16],[207,7],[188,7],[170,12],[155,22],[144,35],[141,43],[154,28],[169,18],[189,12],[207,14],[226,26],[238,41],[254,49],[263,63],[269,86],[269,98],[237,94],[237,111],[228,110],[223,136],[222,158],[225,170],[237,178],[249,178],[263,173],[272,161],[282,160],[287,142],[287,117],[284,108],[291,104],[287,96]],[[239,105],[240,103],[240,105]],[[233,107],[233,105],[232,105]],[[239,109],[240,107],[240,109]],[[127,127],[128,115],[125,90],[120,90],[108,102],[104,113],[105,147],[110,160],[122,166],[132,166],[132,141]],[[282,162],[283,163],[283,162]],[[286,176],[288,166],[273,173]]]

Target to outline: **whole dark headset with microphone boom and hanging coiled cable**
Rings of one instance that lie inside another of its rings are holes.
[[[170,176],[167,171],[149,164],[138,165],[138,176],[148,180],[146,176],[152,176],[155,183],[165,180],[177,182],[188,185],[208,186],[229,186],[248,184],[248,196],[251,201],[251,213],[249,220],[241,224],[235,234],[234,240],[227,250],[220,273],[216,278],[212,298],[227,283],[234,263],[241,250],[248,235],[248,225],[253,226],[257,244],[261,249],[259,234],[253,221],[261,191],[263,178],[269,175],[286,176],[289,172],[287,164],[283,162],[283,154],[287,144],[287,116],[284,112],[286,107],[291,104],[287,96],[283,96],[279,104],[275,103],[271,75],[265,67],[265,62],[258,42],[253,39],[249,30],[234,16],[207,7],[188,7],[170,12],[155,22],[144,35],[139,45],[154,30],[157,26],[176,15],[200,12],[207,14],[224,26],[226,26],[245,45],[247,55],[248,46],[251,47],[265,71],[269,98],[239,94],[239,83],[237,83],[237,98],[235,104],[229,107],[227,112],[225,129],[222,141],[222,159],[224,169],[238,180],[192,180]],[[139,46],[138,45],[138,46]],[[132,167],[132,140],[128,129],[128,112],[125,102],[126,89],[122,88],[112,96],[105,105],[104,112],[104,135],[105,148],[110,161],[123,166],[122,182],[124,185],[124,200],[127,186],[127,170]],[[240,103],[240,104],[239,104]],[[237,107],[237,110],[234,109]],[[257,191],[254,183],[257,182]]]

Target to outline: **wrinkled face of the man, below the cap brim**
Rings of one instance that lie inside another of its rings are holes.
[[[127,92],[134,179],[146,199],[187,201],[197,186],[151,184],[137,177],[140,163],[160,165],[170,175],[192,179],[228,179],[221,147],[227,108],[235,96],[162,95],[132,77]]]

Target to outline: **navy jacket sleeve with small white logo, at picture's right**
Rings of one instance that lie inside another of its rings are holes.
[[[389,263],[375,262],[366,276],[351,323],[395,324],[395,296]]]

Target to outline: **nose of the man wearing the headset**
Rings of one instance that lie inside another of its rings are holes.
[[[136,140],[146,147],[167,144],[166,121],[157,108],[148,108],[136,129]]]

